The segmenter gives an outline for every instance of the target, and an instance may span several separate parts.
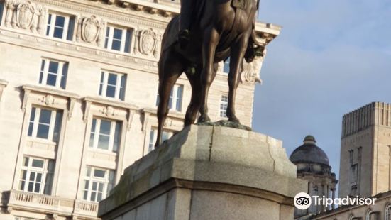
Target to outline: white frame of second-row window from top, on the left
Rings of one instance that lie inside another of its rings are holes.
[[[49,67],[51,62],[58,63],[57,73],[49,72]],[[48,87],[65,89],[67,87],[68,70],[69,70],[69,62],[42,57],[40,60],[40,74],[38,76],[38,83]],[[55,85],[48,84],[48,75],[56,75]]]

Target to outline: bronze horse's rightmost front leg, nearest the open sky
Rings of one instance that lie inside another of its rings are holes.
[[[233,121],[236,123],[240,123],[235,113],[236,89],[238,89],[238,85],[240,82],[239,77],[241,76],[243,57],[246,53],[249,36],[250,31],[248,31],[247,34],[243,34],[242,37],[239,38],[238,41],[231,46],[231,57],[228,74],[228,106],[226,115],[229,121]]]

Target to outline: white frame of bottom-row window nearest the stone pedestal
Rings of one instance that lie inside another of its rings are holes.
[[[104,171],[104,177],[95,176],[95,170]],[[112,180],[110,180],[111,177],[112,177]],[[87,165],[85,168],[84,178],[83,178],[82,187],[81,187],[82,199],[87,202],[99,202],[99,201],[105,199],[109,195],[110,190],[113,189],[115,179],[116,179],[116,170]],[[88,181],[88,183],[87,183],[87,181]],[[94,182],[97,183],[96,190],[92,189]],[[101,191],[99,191],[99,183],[103,184]],[[86,188],[86,186],[87,186],[87,188]],[[92,192],[96,193],[94,199],[92,199]],[[101,193],[100,200],[98,199],[99,192]]]

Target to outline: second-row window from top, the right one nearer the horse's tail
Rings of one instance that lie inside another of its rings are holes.
[[[125,98],[126,76],[113,72],[101,72],[99,95],[123,100]]]

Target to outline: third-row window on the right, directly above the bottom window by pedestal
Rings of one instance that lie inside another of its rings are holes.
[[[92,119],[89,147],[116,152],[121,143],[120,121]]]

